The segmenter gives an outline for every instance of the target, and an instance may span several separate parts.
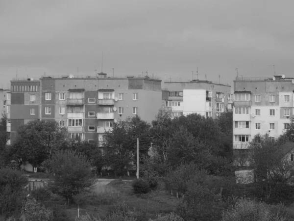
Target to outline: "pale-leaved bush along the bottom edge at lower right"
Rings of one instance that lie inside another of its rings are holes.
[[[288,218],[262,202],[240,199],[231,211],[223,212],[222,221],[287,221]]]

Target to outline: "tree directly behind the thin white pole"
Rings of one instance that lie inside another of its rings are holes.
[[[123,175],[136,163],[137,138],[141,158],[147,155],[151,141],[149,128],[150,125],[138,116],[113,123],[112,131],[106,133],[102,146],[106,165],[114,170],[115,175]]]

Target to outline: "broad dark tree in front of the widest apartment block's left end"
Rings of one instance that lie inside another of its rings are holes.
[[[36,167],[54,150],[66,146],[67,140],[66,129],[56,121],[29,121],[18,128],[12,152],[17,161],[29,161]]]

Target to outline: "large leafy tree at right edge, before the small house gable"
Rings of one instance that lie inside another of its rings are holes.
[[[294,179],[294,162],[285,156],[288,148],[279,140],[272,140],[268,134],[256,135],[250,142],[249,162],[255,171],[257,193],[268,201],[280,201],[291,196],[293,188],[289,186]],[[293,149],[293,144],[289,144]]]

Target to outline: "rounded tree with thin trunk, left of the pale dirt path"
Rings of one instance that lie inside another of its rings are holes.
[[[54,182],[50,184],[53,193],[72,200],[92,185],[91,162],[77,151],[57,150],[47,161]]]

